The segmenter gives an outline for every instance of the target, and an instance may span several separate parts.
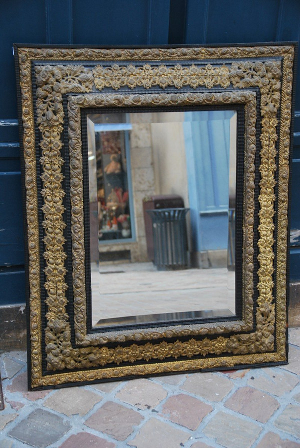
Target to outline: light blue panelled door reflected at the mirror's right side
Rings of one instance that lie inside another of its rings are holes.
[[[184,141],[194,251],[227,249],[229,131],[234,111],[184,114]]]

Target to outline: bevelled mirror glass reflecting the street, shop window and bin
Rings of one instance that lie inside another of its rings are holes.
[[[235,315],[236,115],[87,115],[93,328]]]

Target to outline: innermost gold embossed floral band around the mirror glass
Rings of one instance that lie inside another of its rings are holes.
[[[224,322],[222,325],[188,325],[170,327],[156,327],[153,329],[137,329],[128,331],[110,331],[104,336],[89,334],[86,335],[86,301],[85,301],[85,278],[84,278],[84,229],[83,229],[83,201],[82,184],[77,180],[82,179],[82,163],[77,163],[81,157],[81,126],[80,111],[82,108],[90,107],[155,107],[155,106],[198,106],[198,105],[245,105],[245,147],[244,147],[244,251],[243,251],[243,278],[246,288],[243,290],[242,304],[244,319],[235,322],[235,331],[247,331],[252,329],[252,305],[253,305],[253,216],[254,216],[254,157],[255,157],[255,121],[256,121],[256,94],[251,91],[229,91],[228,93],[172,93],[172,94],[140,94],[117,95],[117,94],[86,94],[68,97],[68,119],[71,123],[68,129],[69,156],[71,168],[71,201],[76,203],[76,213],[72,213],[72,229],[75,225],[75,232],[72,231],[73,238],[73,258],[76,260],[79,269],[73,270],[74,283],[74,329],[76,343],[79,345],[106,344],[108,341],[128,341],[128,340],[152,340],[157,338],[174,338],[178,336],[195,336],[204,334],[220,334],[231,331],[232,322]],[[73,186],[74,185],[74,186]],[[78,195],[79,191],[79,195]],[[80,198],[81,192],[81,200]],[[75,200],[73,199],[75,198]],[[80,213],[78,208],[81,209]],[[80,316],[80,322],[76,319]]]

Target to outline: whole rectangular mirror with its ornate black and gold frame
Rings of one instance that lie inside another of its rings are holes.
[[[28,387],[286,363],[294,45],[14,52]]]

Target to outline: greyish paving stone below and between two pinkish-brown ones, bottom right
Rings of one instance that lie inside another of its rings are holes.
[[[202,433],[226,448],[249,448],[258,437],[261,428],[239,417],[217,413]]]

